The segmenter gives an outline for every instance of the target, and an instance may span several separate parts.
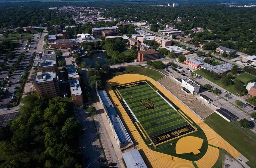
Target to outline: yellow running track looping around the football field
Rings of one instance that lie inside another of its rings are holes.
[[[178,157],[174,157],[174,159],[172,160],[170,155],[159,153],[149,149],[148,146],[143,141],[143,139],[141,138],[138,130],[132,123],[128,114],[124,110],[123,106],[120,104],[118,97],[116,97],[114,91],[112,90],[112,86],[121,85],[125,83],[130,83],[130,82],[136,82],[140,80],[148,80],[149,82],[151,82],[159,91],[165,94],[166,97],[168,97],[183,112],[185,112],[199,127],[201,127],[201,129],[206,135],[208,144],[225,149],[234,158],[241,155],[241,153],[239,153],[233,146],[231,146],[226,140],[220,137],[207,124],[201,121],[193,112],[191,112],[186,106],[184,106],[180,101],[178,101],[175,97],[173,97],[166,89],[164,89],[159,83],[154,81],[152,78],[149,78],[144,75],[138,75],[138,74],[119,75],[110,79],[107,82],[106,91],[110,94],[112,100],[114,101],[114,104],[118,104],[116,109],[118,110],[119,115],[125,121],[129,129],[129,132],[132,134],[132,137],[136,141],[135,145],[138,147],[138,150],[143,151],[142,156],[144,158],[146,157],[145,162],[147,162],[147,164],[150,164],[152,167],[156,167],[156,168],[194,168],[192,162],[189,160],[178,158]],[[195,161],[195,163],[199,168],[210,168],[217,161],[218,155],[219,155],[219,149],[208,145],[208,149],[205,155],[198,161]]]

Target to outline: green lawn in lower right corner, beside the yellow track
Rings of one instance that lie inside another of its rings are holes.
[[[235,126],[233,123],[229,123],[216,113],[213,113],[205,120],[207,121],[207,125],[209,125],[249,160],[246,163],[250,167],[254,167],[256,165],[256,141],[254,139],[247,136],[241,128]]]

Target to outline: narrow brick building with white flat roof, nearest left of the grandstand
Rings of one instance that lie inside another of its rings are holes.
[[[82,106],[83,105],[83,94],[81,86],[78,79],[69,80],[71,97],[74,105]]]

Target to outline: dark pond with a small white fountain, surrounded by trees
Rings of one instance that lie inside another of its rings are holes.
[[[93,52],[88,57],[82,58],[82,61],[85,61],[87,66],[90,65],[91,68],[93,68],[95,66],[96,61],[100,61],[100,65],[104,65],[104,64],[109,65],[109,61],[106,61],[107,59],[110,59],[110,58],[107,56],[106,52]]]

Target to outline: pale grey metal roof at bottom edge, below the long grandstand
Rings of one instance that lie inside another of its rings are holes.
[[[129,152],[122,154],[125,164],[129,168],[147,168],[143,158],[141,157],[138,149],[133,149]]]

